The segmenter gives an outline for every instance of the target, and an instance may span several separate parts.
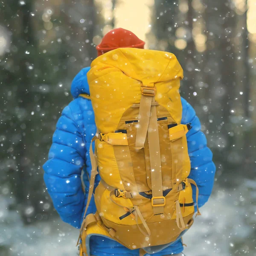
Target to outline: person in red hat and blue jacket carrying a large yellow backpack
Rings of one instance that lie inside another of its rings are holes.
[[[212,192],[212,152],[179,94],[183,70],[144,44],[121,28],[103,37],[43,166],[55,209],[80,229],[81,256],[181,256]]]

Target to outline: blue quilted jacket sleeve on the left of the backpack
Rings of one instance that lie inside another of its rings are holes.
[[[85,202],[80,177],[86,150],[76,100],[64,108],[57,122],[43,169],[45,184],[61,219],[80,228]]]

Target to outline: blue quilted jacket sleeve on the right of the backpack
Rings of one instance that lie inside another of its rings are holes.
[[[212,162],[212,152],[207,147],[207,139],[201,131],[201,124],[192,106],[181,99],[182,124],[191,123],[192,129],[186,134],[188,151],[191,162],[189,178],[195,180],[199,189],[198,206],[202,207],[212,193],[215,176],[215,165]],[[193,199],[196,202],[196,189],[192,185]],[[195,206],[196,208],[196,206]]]

